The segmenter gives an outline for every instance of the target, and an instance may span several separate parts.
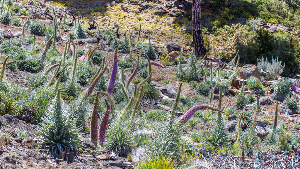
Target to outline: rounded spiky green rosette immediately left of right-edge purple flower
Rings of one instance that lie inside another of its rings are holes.
[[[284,100],[291,92],[291,84],[292,82],[286,78],[279,79],[273,86],[273,98],[280,101]]]

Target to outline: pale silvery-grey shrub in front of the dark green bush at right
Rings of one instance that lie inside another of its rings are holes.
[[[263,69],[264,71],[266,71],[267,76],[266,78],[268,79],[274,79],[277,78],[278,75],[280,75],[283,72],[285,63],[283,63],[283,65],[281,65],[281,60],[280,62],[278,62],[278,57],[277,59],[273,59],[272,57],[272,63],[268,61],[268,59],[265,59],[262,57],[260,60],[257,60],[257,68]]]

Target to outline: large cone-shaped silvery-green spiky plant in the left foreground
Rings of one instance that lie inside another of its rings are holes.
[[[79,142],[80,128],[76,128],[76,120],[67,112],[64,103],[61,102],[60,90],[52,104],[46,110],[46,117],[38,129],[42,142],[47,149],[56,154],[72,151],[78,152],[82,144]]]

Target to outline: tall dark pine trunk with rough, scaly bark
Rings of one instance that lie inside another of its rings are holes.
[[[201,0],[193,0],[193,13],[192,13],[192,29],[193,29],[193,42],[195,45],[195,55],[204,56],[206,49],[201,32]]]

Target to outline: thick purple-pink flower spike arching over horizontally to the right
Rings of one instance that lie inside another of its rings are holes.
[[[221,109],[218,109],[218,108],[213,107],[211,105],[200,104],[200,105],[193,106],[192,108],[187,110],[187,112],[182,116],[182,118],[179,120],[179,122],[181,124],[186,123],[197,111],[203,110],[203,109],[209,109],[209,110],[214,110],[214,111],[219,111],[219,112],[224,113]]]

